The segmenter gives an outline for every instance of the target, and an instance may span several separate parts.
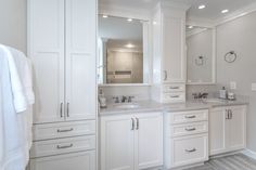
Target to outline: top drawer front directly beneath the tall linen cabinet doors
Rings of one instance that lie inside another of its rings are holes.
[[[95,134],[95,120],[36,125],[34,141]]]

